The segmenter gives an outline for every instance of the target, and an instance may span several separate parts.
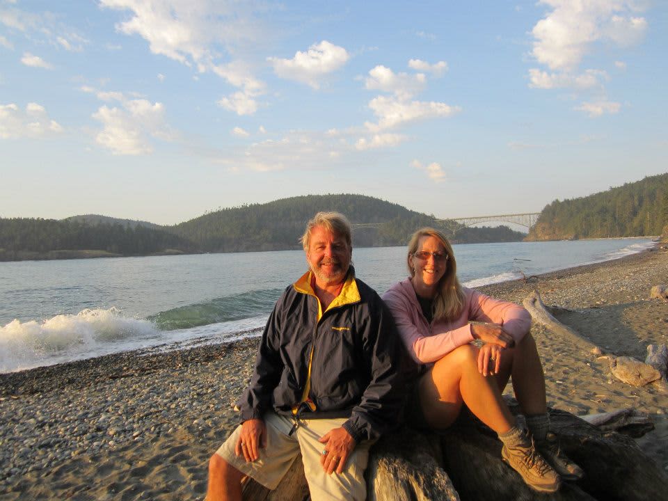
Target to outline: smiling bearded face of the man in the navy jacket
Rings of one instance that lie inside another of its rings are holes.
[[[322,226],[315,226],[306,250],[306,260],[319,287],[340,284],[348,272],[352,249],[346,239]]]

